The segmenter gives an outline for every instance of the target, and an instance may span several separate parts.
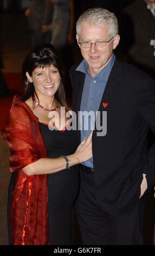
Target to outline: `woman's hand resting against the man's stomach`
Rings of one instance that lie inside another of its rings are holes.
[[[93,135],[93,131],[89,134],[87,141],[86,141],[86,137],[83,139],[83,141],[80,143],[80,145],[78,146],[78,148],[74,153],[79,163],[85,162],[91,159],[93,156],[92,135]]]

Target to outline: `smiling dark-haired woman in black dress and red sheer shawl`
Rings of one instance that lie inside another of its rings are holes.
[[[77,132],[67,129],[71,119],[66,112],[62,117],[61,107],[69,108],[53,46],[36,46],[28,54],[23,80],[24,96],[14,97],[2,131],[11,153],[9,243],[72,245],[79,190],[76,164],[92,157],[92,138],[76,149]],[[53,124],[48,126],[49,121]]]

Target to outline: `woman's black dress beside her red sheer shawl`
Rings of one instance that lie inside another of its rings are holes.
[[[73,154],[78,145],[77,131],[49,130],[40,123],[49,158]],[[50,245],[74,244],[75,200],[79,192],[78,167],[48,175],[48,217]]]

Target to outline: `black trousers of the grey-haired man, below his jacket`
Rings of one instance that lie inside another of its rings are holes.
[[[126,216],[112,216],[96,203],[94,173],[81,168],[77,217],[83,245],[143,245],[145,197]]]

